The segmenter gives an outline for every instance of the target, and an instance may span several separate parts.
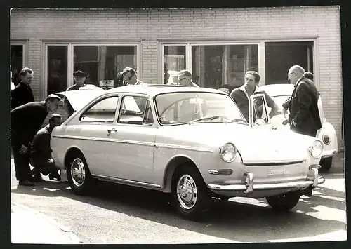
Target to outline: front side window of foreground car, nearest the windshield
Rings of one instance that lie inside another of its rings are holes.
[[[118,123],[152,125],[154,118],[147,97],[124,96],[119,110]]]

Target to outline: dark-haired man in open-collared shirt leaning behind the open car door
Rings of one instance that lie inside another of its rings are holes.
[[[260,83],[260,74],[255,71],[248,71],[245,74],[245,83],[243,86],[239,88],[235,88],[230,93],[232,99],[237,103],[241,113],[244,115],[245,119],[249,121],[249,99],[251,95],[263,93],[265,95],[265,100],[267,102],[267,106],[272,108],[270,111],[270,119],[272,116],[277,114],[278,105],[274,102],[272,97],[265,93],[265,91],[260,91],[258,88],[258,84]],[[258,103],[260,108],[263,107],[263,103]]]

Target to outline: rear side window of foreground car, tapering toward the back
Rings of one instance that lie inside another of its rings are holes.
[[[87,109],[81,114],[81,122],[113,123],[116,114],[118,96],[107,97]]]

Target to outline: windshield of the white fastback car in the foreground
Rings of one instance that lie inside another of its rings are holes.
[[[219,93],[164,93],[155,98],[161,124],[233,122],[247,125],[228,95]]]

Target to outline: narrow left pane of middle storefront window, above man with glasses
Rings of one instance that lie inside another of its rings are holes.
[[[185,67],[185,46],[164,46],[163,82],[176,84],[179,72]]]

